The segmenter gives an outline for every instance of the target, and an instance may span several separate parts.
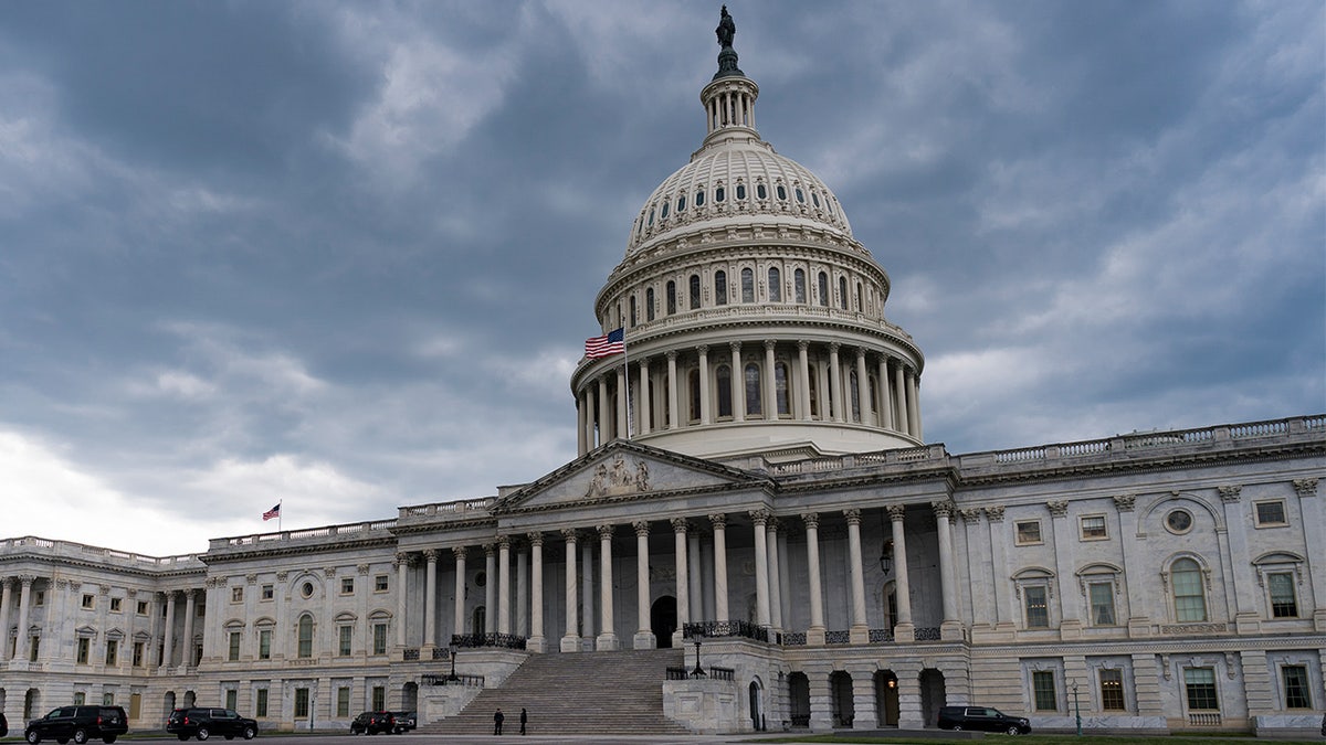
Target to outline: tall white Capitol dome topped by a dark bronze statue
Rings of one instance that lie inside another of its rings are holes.
[[[833,191],[760,138],[760,87],[731,34],[720,44],[704,141],[644,201],[595,300],[625,350],[595,347],[572,375],[579,453],[614,439],[716,460],[923,444],[924,357],[884,317],[888,274]]]

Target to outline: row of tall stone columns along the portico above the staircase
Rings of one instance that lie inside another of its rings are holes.
[[[957,616],[957,590],[953,574],[953,563],[949,557],[952,551],[952,536],[949,514],[951,502],[935,502],[932,505],[939,522],[939,553],[940,553],[940,583],[943,597],[943,628],[953,627],[960,635],[960,620]],[[914,624],[910,601],[910,583],[907,573],[907,540],[903,529],[903,505],[886,508],[892,532],[894,542],[894,581],[896,583],[898,616],[895,636],[899,640],[912,638]],[[789,583],[789,557],[786,544],[778,541],[778,521],[769,510],[752,510],[748,513],[753,526],[754,538],[754,585],[756,585],[756,623],[776,631],[784,630],[790,623],[790,607],[793,604],[793,589]],[[806,567],[808,585],[804,594],[809,607],[809,627],[806,628],[806,642],[809,644],[822,644],[825,642],[825,611],[823,586],[819,562],[819,513],[808,512],[800,516],[806,530]],[[849,550],[849,582],[851,598],[850,639],[853,643],[867,643],[870,628],[866,618],[866,585],[865,565],[861,538],[862,512],[859,509],[843,510],[847,522],[847,550]],[[676,622],[675,642],[680,642],[682,627],[686,623],[703,620],[703,586],[712,587],[713,615],[712,620],[731,620],[728,607],[728,566],[727,566],[727,520],[723,513],[709,514],[707,520],[712,528],[713,566],[712,577],[704,574],[700,566],[700,537],[693,530],[688,518],[671,520],[674,533],[674,566],[676,577]],[[652,591],[650,587],[650,522],[636,521],[631,524],[635,532],[636,549],[636,630],[633,638],[635,648],[651,648],[655,646],[654,630],[651,628],[650,611],[652,607]],[[597,650],[621,648],[622,640],[617,636],[617,619],[614,618],[614,581],[613,581],[613,537],[615,525],[598,525],[594,529],[598,537],[598,616],[593,612],[581,619],[579,608],[594,607],[594,573],[591,571],[594,554],[593,538],[585,536],[583,529],[568,528],[561,530],[561,540],[565,542],[566,583],[565,583],[565,624],[560,639],[560,648],[564,652],[579,651],[582,639],[593,638]],[[525,632],[524,608],[529,603],[529,636],[526,648],[533,651],[546,651],[549,640],[544,636],[544,561],[542,547],[548,540],[544,532],[530,532],[525,536],[529,542],[529,579],[525,578],[524,554],[517,557],[518,578],[516,583],[516,608],[518,612],[517,624],[512,626],[512,591],[511,591],[511,536],[501,536],[495,544],[485,546],[488,583],[485,586],[485,628],[488,634],[517,635]],[[465,593],[465,563],[468,549],[456,546],[452,549],[456,562],[456,587],[453,628],[465,627],[465,604],[459,602]],[[436,563],[440,550],[428,549],[423,553],[427,562],[424,587],[424,644],[436,644]],[[495,558],[496,557],[496,558]],[[398,587],[404,587],[404,571],[408,561],[404,555],[398,557]],[[398,611],[404,618],[406,593],[398,595],[400,603]],[[496,618],[492,610],[496,608]],[[595,622],[598,634],[595,635]],[[945,632],[945,636],[948,634]],[[396,644],[404,646],[404,624],[396,626]]]

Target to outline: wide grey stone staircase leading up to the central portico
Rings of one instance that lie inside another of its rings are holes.
[[[501,708],[503,734],[520,732],[529,711],[530,734],[688,734],[663,716],[668,667],[683,667],[682,650],[544,654],[529,658],[501,688],[485,688],[459,715],[422,724],[420,734],[492,734]]]

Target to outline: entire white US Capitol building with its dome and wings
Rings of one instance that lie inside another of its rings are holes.
[[[198,703],[444,733],[501,705],[550,733],[597,726],[593,700],[617,732],[919,729],[952,704],[1037,730],[1314,729],[1326,415],[927,444],[888,274],[760,138],[733,33],[724,9],[704,139],[594,302],[627,354],[572,375],[575,460],[194,555],[3,540],[9,721],[114,703],[156,730]]]

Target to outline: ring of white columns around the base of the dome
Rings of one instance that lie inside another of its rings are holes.
[[[777,378],[776,378],[776,355],[774,349],[777,342],[766,339],[764,342],[764,365],[761,366],[761,410],[765,412],[765,419],[776,419],[778,411],[777,399]],[[732,396],[732,420],[744,422],[745,420],[745,375],[743,371],[741,361],[741,347],[743,342],[729,342],[728,349],[728,362],[731,367],[731,396]],[[789,398],[788,406],[793,410],[796,419],[802,422],[813,422],[810,415],[812,411],[812,391],[810,391],[810,359],[809,359],[810,342],[800,341],[797,342],[797,375],[794,398]],[[699,367],[699,398],[700,398],[700,411],[699,411],[699,424],[707,426],[716,420],[713,412],[715,396],[711,395],[709,379],[709,346],[699,345],[695,347],[696,365]],[[823,402],[826,406],[819,407],[819,420],[831,422],[850,422],[851,415],[850,402],[846,398],[845,391],[850,390],[849,380],[850,375],[846,371],[846,366],[842,365],[839,359],[841,345],[838,342],[831,342],[829,345],[829,372],[827,372],[827,386],[829,392]],[[577,400],[577,433],[579,455],[585,455],[597,445],[602,445],[614,439],[625,437],[627,432],[631,435],[647,435],[652,431],[664,430],[678,430],[690,420],[690,416],[683,416],[679,406],[679,367],[678,367],[678,350],[668,350],[663,353],[667,362],[666,375],[656,375],[652,371],[652,358],[644,357],[633,361],[638,367],[638,374],[634,375],[634,380],[629,380],[633,376],[630,370],[627,370],[626,359],[623,363],[615,369],[605,371],[602,375],[587,380],[581,390],[579,399]],[[870,366],[875,366],[878,391],[879,391],[879,408],[878,412],[871,414],[871,400],[870,400]],[[855,406],[861,411],[861,423],[873,424],[884,430],[894,430],[903,432],[904,435],[911,435],[918,440],[924,439],[920,424],[920,407],[919,390],[918,390],[918,374],[911,365],[899,359],[890,358],[886,354],[871,354],[867,353],[865,347],[857,347],[854,355],[854,367],[857,372],[857,400]],[[892,374],[890,374],[890,370]],[[818,370],[817,370],[818,372]],[[662,394],[654,394],[662,386]],[[627,420],[627,395],[635,402],[635,418],[634,423]],[[792,392],[789,391],[789,396]],[[658,426],[654,426],[654,416],[651,416],[651,410],[655,403],[655,398],[664,403],[666,414],[660,416]],[[827,412],[826,412],[827,408]]]

